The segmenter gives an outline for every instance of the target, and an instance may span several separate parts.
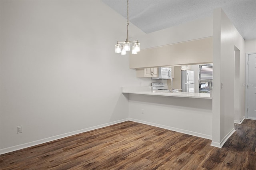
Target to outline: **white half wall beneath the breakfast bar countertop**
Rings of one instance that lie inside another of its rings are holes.
[[[212,139],[212,99],[129,94],[129,118],[135,122]]]

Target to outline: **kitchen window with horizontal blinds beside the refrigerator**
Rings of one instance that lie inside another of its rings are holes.
[[[199,93],[210,93],[212,90],[213,65],[199,65]]]

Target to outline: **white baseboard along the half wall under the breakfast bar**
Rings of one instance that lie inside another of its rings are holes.
[[[160,128],[172,130],[172,131],[175,131],[175,132],[184,133],[184,134],[190,134],[192,136],[198,136],[200,138],[212,139],[212,136],[210,136],[210,135],[202,134],[202,133],[198,133],[198,132],[192,132],[192,131],[184,130],[184,129],[180,129],[180,128],[174,128],[174,127],[169,127],[169,126],[165,126],[165,125],[159,125],[159,124],[156,124],[156,123],[140,121],[140,120],[137,120],[137,119],[130,119],[130,118],[129,118],[129,121],[133,121],[133,122],[137,122],[137,123],[142,123],[142,124],[146,124],[146,125],[151,125],[151,126],[154,126],[154,127],[160,127]]]

